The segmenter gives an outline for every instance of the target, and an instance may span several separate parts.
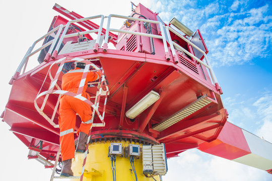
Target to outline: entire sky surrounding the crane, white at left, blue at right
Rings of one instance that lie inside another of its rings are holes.
[[[141,2],[168,23],[176,17],[191,30],[200,30],[209,49],[208,57],[223,89],[228,121],[272,142],[272,1],[133,1]],[[1,104],[4,110],[11,86],[8,84],[28,47],[46,33],[54,3],[82,16],[129,15],[130,1],[1,1],[0,15],[6,28],[0,29],[2,67]],[[120,6],[122,5],[122,6]],[[121,24],[116,24],[119,28]],[[14,66],[11,66],[10,62]],[[37,63],[33,60],[31,63]],[[35,66],[35,65],[33,65]],[[28,149],[1,123],[2,180],[49,180],[50,170],[27,160]],[[16,146],[16,148],[15,148]],[[12,160],[12,161],[11,161]],[[16,160],[16,161],[15,161]],[[14,164],[20,169],[14,174]],[[188,150],[168,160],[163,180],[272,180],[265,171],[223,158]],[[31,174],[30,174],[31,172]],[[10,177],[12,175],[12,177]],[[42,176],[41,176],[42,175]],[[24,179],[23,179],[24,180]]]

